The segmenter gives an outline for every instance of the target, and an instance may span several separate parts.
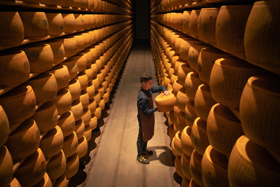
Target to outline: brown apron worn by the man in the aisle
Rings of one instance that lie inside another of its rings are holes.
[[[153,109],[153,95],[148,100],[148,109]],[[140,110],[139,110],[139,113],[140,113],[140,118],[141,118],[143,140],[148,141],[148,140],[152,139],[154,131],[155,131],[155,113],[144,114],[144,113],[141,113]]]

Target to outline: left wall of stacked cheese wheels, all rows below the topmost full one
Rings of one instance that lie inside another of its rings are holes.
[[[87,141],[132,46],[134,23],[94,31],[2,53],[6,60],[24,54],[15,60],[18,68],[44,71],[0,96],[2,186],[17,181],[67,186],[66,179],[78,172],[79,158],[87,153]]]

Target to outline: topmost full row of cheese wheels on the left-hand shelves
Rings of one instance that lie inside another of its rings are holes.
[[[131,20],[131,15],[80,13],[2,12],[1,45],[20,44],[24,39],[43,40],[81,30]]]

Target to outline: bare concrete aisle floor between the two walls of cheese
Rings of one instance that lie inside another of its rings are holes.
[[[181,186],[164,113],[155,112],[155,135],[148,141],[148,149],[154,151],[148,158],[150,164],[143,165],[136,160],[137,95],[141,88],[139,77],[144,72],[153,76],[153,85],[158,85],[150,43],[142,39],[134,41],[110,102],[88,141],[87,155],[80,158],[80,169],[69,180],[70,187]]]

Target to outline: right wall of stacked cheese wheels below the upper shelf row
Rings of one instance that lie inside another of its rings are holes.
[[[279,186],[279,76],[153,21],[151,43],[183,184]]]

